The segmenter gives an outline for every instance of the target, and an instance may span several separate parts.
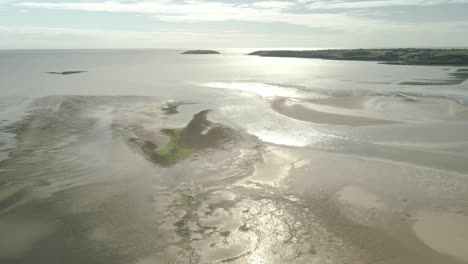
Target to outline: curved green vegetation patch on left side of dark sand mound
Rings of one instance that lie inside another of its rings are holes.
[[[143,152],[151,160],[161,166],[171,166],[192,155],[193,150],[181,144],[183,129],[164,129],[161,132],[170,138],[169,143],[158,147],[151,141],[145,141],[142,146]]]

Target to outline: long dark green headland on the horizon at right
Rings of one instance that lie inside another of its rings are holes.
[[[325,60],[378,61],[400,65],[468,65],[468,49],[260,50],[248,55]]]

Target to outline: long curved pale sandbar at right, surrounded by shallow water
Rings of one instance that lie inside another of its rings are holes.
[[[468,107],[448,98],[403,94],[347,96],[307,102],[270,98],[270,106],[285,116],[344,126],[395,125],[408,122],[468,121]]]

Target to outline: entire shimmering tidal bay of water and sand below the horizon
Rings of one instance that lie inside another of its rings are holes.
[[[0,51],[0,263],[468,263],[463,67],[180,52]]]

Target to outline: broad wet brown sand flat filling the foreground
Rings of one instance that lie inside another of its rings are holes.
[[[2,263],[468,262],[463,173],[266,143],[203,105],[36,104],[1,163]],[[194,150],[170,166],[131,143],[167,129]]]

